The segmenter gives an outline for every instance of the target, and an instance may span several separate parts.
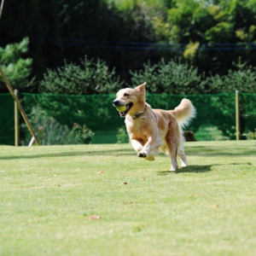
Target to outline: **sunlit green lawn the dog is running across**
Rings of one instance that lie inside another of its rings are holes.
[[[256,142],[0,146],[0,255],[256,255]]]

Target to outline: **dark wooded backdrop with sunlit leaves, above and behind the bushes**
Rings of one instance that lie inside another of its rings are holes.
[[[127,84],[130,70],[173,57],[211,77],[228,75],[239,57],[256,66],[255,15],[252,0],[13,0],[4,5],[0,45],[29,37],[38,80],[84,55],[115,67]]]

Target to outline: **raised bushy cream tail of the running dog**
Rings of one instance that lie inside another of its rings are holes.
[[[195,107],[188,99],[183,99],[174,110],[170,111],[177,119],[178,125],[181,127],[189,125],[190,120],[195,118],[196,115]]]

